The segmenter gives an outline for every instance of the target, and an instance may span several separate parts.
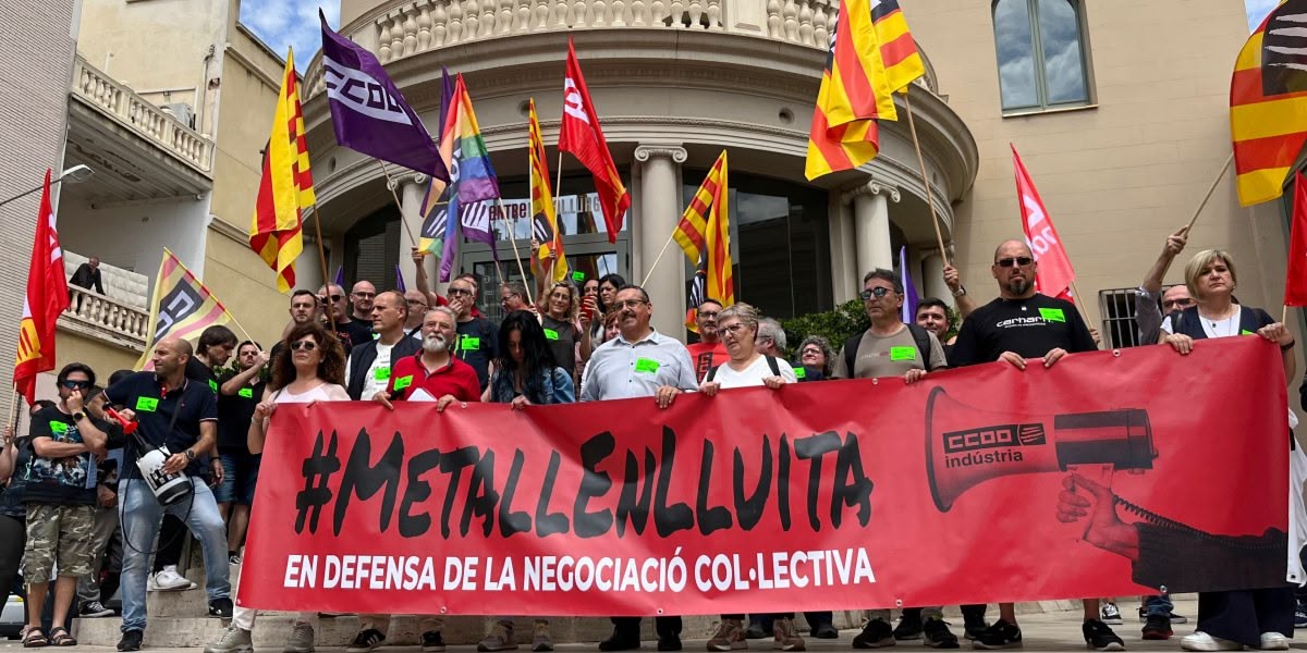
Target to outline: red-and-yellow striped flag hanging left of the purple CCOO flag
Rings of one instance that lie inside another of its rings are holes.
[[[250,248],[276,270],[277,290],[282,293],[295,286],[295,259],[303,251],[302,213],[316,202],[294,51],[286,51],[286,71],[263,153],[263,179],[250,225]]]

